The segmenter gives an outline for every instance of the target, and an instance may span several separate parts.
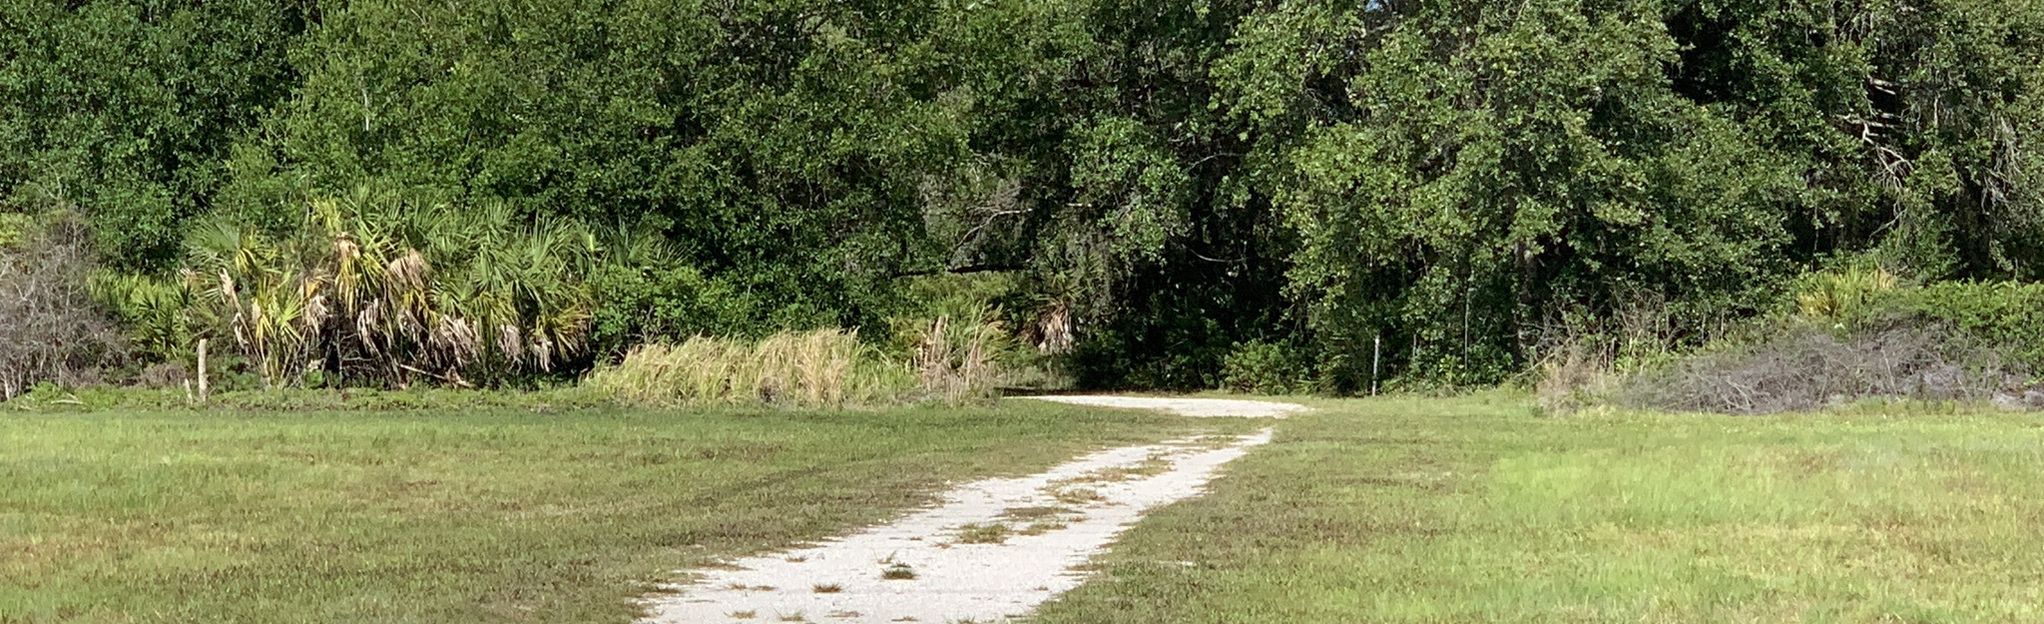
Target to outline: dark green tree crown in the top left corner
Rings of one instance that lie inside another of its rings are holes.
[[[229,143],[294,88],[311,2],[0,2],[0,203],[88,215],[123,268],[176,260]]]

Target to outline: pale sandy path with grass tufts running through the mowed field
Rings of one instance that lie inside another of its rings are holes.
[[[697,571],[650,599],[644,622],[1004,622],[1077,587],[1083,573],[1073,569],[1145,511],[1198,495],[1216,469],[1269,438],[1124,446],[969,483],[885,526]]]

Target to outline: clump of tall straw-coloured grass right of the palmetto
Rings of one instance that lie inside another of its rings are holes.
[[[587,383],[636,405],[842,407],[916,395],[905,364],[889,362],[846,329],[642,344]]]

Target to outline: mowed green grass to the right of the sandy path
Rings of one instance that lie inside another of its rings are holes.
[[[2044,620],[2040,415],[1320,407],[1032,622]]]

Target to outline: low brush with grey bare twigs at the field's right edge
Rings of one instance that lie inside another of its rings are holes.
[[[1997,401],[2038,395],[2044,286],[1911,284],[1874,266],[1815,272],[1768,313],[1701,344],[1566,333],[1535,366],[1545,411],[1588,405],[1776,413],[1856,401]],[[1658,350],[1656,350],[1658,348]]]

